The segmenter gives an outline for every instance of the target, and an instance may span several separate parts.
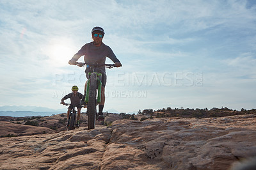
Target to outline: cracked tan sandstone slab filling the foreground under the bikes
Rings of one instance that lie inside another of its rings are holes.
[[[228,169],[256,157],[255,123],[256,114],[152,118],[1,137],[0,169]]]

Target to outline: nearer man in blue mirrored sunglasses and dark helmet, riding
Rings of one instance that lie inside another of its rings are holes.
[[[99,65],[103,65],[106,62],[106,58],[111,59],[116,67],[121,66],[120,61],[116,58],[113,50],[108,45],[105,45],[102,42],[102,39],[105,35],[104,29],[102,27],[93,27],[92,29],[92,39],[93,42],[86,43],[68,63],[70,65],[76,65],[76,61],[84,56],[84,62],[93,64],[98,63]],[[85,70],[86,77],[88,79],[88,73],[92,72],[92,68],[87,67]],[[101,88],[101,101],[99,103],[99,119],[104,119],[103,116],[103,108],[105,103],[105,86],[107,81],[105,66],[100,66],[98,68],[98,72],[102,73],[102,88]],[[84,86],[84,97],[86,95],[86,84]],[[81,104],[85,105],[84,97],[81,100]]]

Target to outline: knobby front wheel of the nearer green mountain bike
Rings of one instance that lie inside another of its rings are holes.
[[[96,89],[97,89],[97,73],[93,72],[90,76],[90,88],[89,88],[89,98],[87,105],[87,115],[88,115],[88,129],[95,128],[96,120]]]

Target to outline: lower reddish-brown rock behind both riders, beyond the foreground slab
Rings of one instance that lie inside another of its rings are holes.
[[[121,119],[118,114],[110,114],[107,121]],[[87,116],[81,114],[81,127],[87,126]],[[28,123],[30,122],[30,123]],[[33,124],[33,125],[26,125]],[[10,117],[0,116],[0,137],[48,134],[67,130],[67,113],[56,114],[52,116],[33,116],[33,117]]]

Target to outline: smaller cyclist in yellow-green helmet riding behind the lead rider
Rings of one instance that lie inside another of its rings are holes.
[[[64,100],[67,100],[68,98],[70,98],[71,103],[68,107],[67,118],[69,118],[69,114],[72,108],[77,107],[77,122],[76,122],[77,128],[79,127],[79,123],[80,123],[80,115],[81,115],[81,108],[82,108],[82,105],[80,105],[80,100],[82,97],[83,95],[78,92],[78,87],[73,86],[72,93],[69,93],[68,95],[65,95],[65,97],[61,98],[61,104],[65,104]]]

